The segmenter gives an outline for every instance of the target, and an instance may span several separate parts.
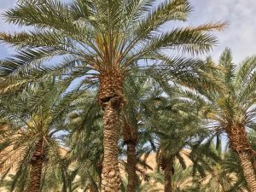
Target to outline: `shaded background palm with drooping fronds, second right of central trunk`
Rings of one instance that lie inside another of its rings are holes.
[[[184,162],[183,155],[186,154],[182,153],[183,148],[189,146],[203,130],[199,126],[199,119],[192,111],[189,113],[191,106],[178,101],[175,95],[159,96],[154,102],[155,113],[152,113],[149,124],[159,143],[157,161],[164,172],[165,192],[171,192],[175,161],[178,160],[186,169],[188,165]]]

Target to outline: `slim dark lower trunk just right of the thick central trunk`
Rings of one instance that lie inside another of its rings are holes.
[[[137,189],[137,174],[136,174],[136,144],[129,142],[127,143],[127,173],[128,173],[128,184],[127,192],[136,192]]]

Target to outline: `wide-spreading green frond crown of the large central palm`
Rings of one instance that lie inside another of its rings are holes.
[[[222,29],[224,23],[157,32],[168,21],[186,20],[190,11],[187,0],[159,4],[148,0],[76,0],[68,4],[59,0],[20,1],[3,14],[5,19],[34,27],[29,32],[0,34],[1,41],[18,50],[1,63],[0,74],[6,78],[3,89],[18,89],[44,76],[65,73],[67,66],[72,75],[81,66],[99,73],[114,66],[126,70],[137,61],[152,60],[151,55],[162,49],[205,53],[217,43],[209,31]],[[49,65],[48,61],[59,57],[73,60],[70,65],[63,62]],[[160,57],[155,59],[161,61]],[[80,76],[89,71],[79,71]],[[76,75],[71,77],[78,79]]]

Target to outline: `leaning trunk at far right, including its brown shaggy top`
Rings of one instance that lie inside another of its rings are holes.
[[[256,177],[253,171],[252,156],[253,148],[247,138],[244,126],[234,125],[226,130],[230,137],[231,148],[238,154],[244,177],[247,180],[248,189],[256,192]]]

